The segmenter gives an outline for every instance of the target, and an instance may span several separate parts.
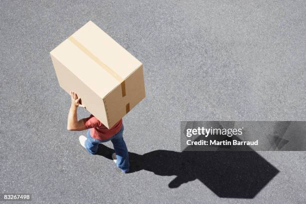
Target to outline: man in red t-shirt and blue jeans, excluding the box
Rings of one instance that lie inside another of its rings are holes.
[[[95,154],[98,150],[98,143],[111,141],[115,153],[113,153],[112,159],[116,163],[117,167],[124,173],[128,172],[129,161],[128,151],[126,144],[123,140],[123,124],[122,119],[116,122],[110,129],[102,124],[92,114],[89,117],[77,120],[77,107],[82,106],[80,104],[80,98],[73,91],[70,91],[71,106],[68,113],[67,129],[68,130],[84,130],[88,129],[87,137],[84,135],[79,136],[80,144],[87,149],[91,154]]]

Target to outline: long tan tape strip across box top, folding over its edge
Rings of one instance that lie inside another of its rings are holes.
[[[126,95],[125,93],[125,81],[121,76],[119,76],[116,72],[114,72],[111,68],[109,68],[106,64],[104,64],[98,57],[94,56],[86,47],[84,47],[81,43],[79,43],[74,37],[70,36],[68,39],[77,46],[80,50],[82,50],[87,56],[89,56],[93,61],[99,64],[102,68],[105,69],[110,75],[112,75],[116,80],[120,82],[122,97]]]

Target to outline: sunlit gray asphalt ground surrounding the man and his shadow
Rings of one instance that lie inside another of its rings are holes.
[[[85,131],[66,130],[70,98],[49,56],[92,20],[144,65],[146,98],[123,118],[129,151],[179,152],[180,120],[306,119],[305,9],[304,0],[1,0],[0,193],[32,193],[32,203],[306,203],[302,151],[255,153],[279,172],[253,198],[220,197],[199,179],[171,187],[171,173],[120,174],[81,148]],[[202,168],[209,178],[229,165]]]

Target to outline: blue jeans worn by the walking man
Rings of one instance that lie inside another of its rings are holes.
[[[123,125],[120,131],[118,131],[116,134],[114,134],[109,139],[104,140],[98,140],[95,138],[92,138],[90,136],[90,130],[87,131],[87,139],[85,141],[85,147],[87,151],[91,154],[95,154],[98,150],[98,143],[111,141],[113,148],[116,153],[117,157],[117,167],[119,167],[124,173],[126,173],[129,170],[129,161],[128,161],[128,151],[126,144],[123,140]]]

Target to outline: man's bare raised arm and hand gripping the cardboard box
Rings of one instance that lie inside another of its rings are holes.
[[[84,130],[86,129],[83,119],[77,120],[77,107],[82,106],[79,102],[80,98],[73,91],[70,91],[71,105],[67,119],[67,130]]]

